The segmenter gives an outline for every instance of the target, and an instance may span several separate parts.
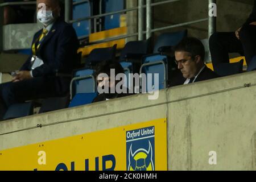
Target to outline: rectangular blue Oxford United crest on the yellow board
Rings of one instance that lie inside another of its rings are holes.
[[[155,127],[126,132],[127,171],[155,170]]]

